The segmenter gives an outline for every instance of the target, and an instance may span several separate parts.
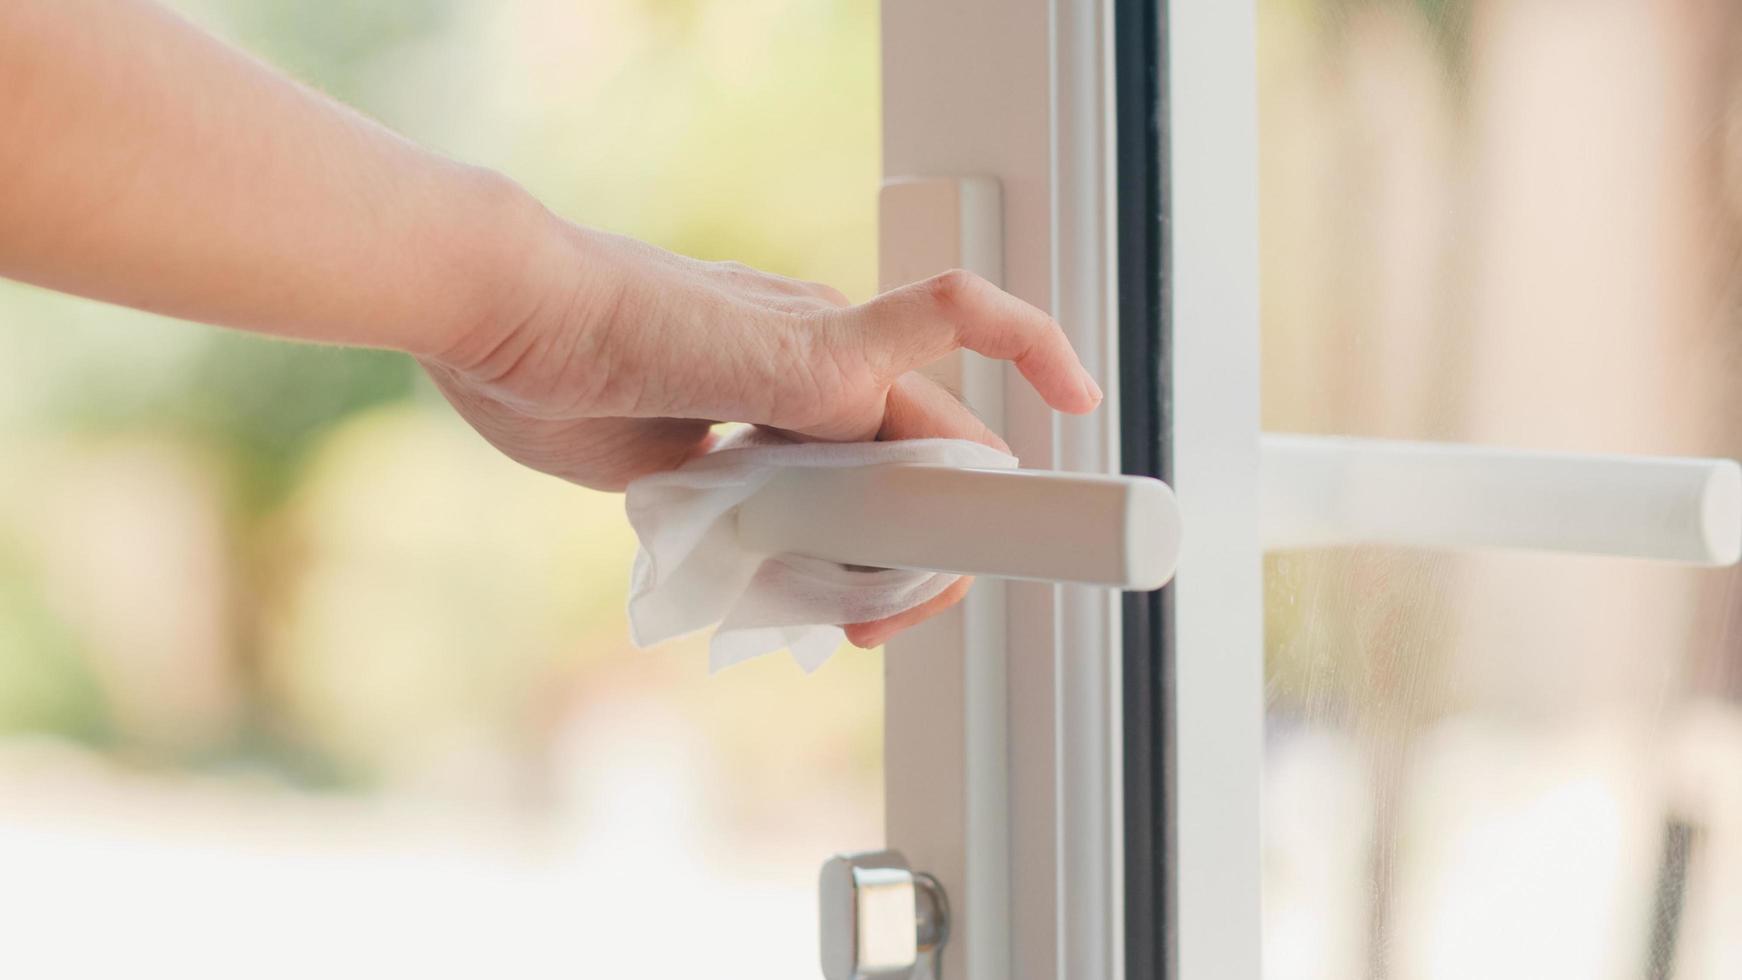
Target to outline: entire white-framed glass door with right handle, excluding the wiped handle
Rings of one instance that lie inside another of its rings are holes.
[[[892,644],[948,975],[1733,973],[1718,7],[885,3],[885,178],[991,181],[1111,397],[965,395],[1183,524]]]

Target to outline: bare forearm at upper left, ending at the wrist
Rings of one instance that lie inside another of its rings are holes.
[[[545,216],[148,0],[0,2],[0,275],[308,339],[446,350]]]

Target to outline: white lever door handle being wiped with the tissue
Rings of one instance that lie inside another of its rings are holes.
[[[1179,559],[1179,505],[1148,477],[948,467],[793,468],[739,508],[766,554],[1160,588]]]

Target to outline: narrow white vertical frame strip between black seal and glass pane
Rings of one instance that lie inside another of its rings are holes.
[[[1172,0],[1172,477],[1179,977],[1259,975],[1265,729],[1258,38],[1251,2]]]

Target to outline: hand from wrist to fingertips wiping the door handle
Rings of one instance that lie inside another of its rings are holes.
[[[526,263],[503,313],[423,364],[490,442],[598,489],[704,453],[716,421],[826,440],[974,439],[1007,449],[913,371],[970,348],[1010,360],[1059,411],[1101,390],[1059,326],[986,280],[949,272],[854,306],[836,289],[704,263],[549,218],[554,247]],[[953,606],[848,627],[876,646]]]

